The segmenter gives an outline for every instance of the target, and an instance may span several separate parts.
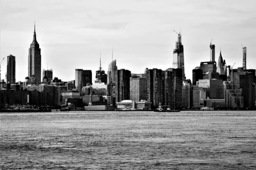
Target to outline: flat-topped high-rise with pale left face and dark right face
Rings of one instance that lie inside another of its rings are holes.
[[[93,84],[92,82],[92,71],[91,70],[83,70],[83,69],[76,69],[75,75],[75,86],[78,89],[85,87],[89,83],[90,85]]]

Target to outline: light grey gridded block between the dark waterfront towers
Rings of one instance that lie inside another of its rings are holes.
[[[147,80],[141,77],[130,77],[130,99],[132,101],[147,100]]]

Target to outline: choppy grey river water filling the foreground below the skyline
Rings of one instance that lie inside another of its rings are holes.
[[[0,168],[256,169],[255,111],[0,114]]]

